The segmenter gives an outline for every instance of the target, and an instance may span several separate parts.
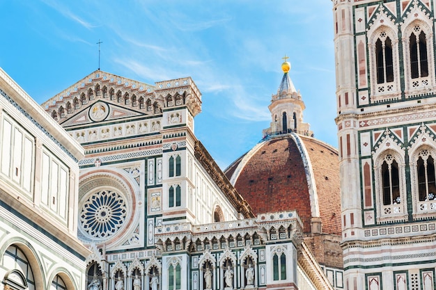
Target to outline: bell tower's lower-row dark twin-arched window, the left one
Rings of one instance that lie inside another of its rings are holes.
[[[400,204],[400,175],[394,156],[387,154],[382,163],[383,205]]]

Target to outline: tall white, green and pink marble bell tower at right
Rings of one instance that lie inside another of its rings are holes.
[[[345,289],[434,290],[434,4],[333,4]]]

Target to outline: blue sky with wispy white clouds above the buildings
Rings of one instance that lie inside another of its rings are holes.
[[[222,169],[270,125],[286,54],[304,122],[337,147],[332,2],[0,0],[0,66],[38,103],[98,69],[154,85],[191,76],[196,136]]]

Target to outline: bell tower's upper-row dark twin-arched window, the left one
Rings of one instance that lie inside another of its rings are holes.
[[[380,33],[380,38],[375,42],[375,65],[377,66],[377,83],[394,81],[392,42],[384,31]]]

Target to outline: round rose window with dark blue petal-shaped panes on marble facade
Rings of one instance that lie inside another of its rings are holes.
[[[99,191],[84,202],[80,223],[84,232],[93,238],[106,239],[123,226],[127,207],[115,191]]]

